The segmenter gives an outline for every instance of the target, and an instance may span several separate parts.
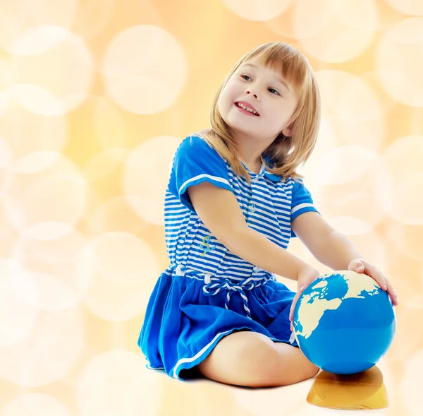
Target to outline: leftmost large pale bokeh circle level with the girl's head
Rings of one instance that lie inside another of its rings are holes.
[[[13,97],[35,114],[67,114],[87,99],[94,59],[77,35],[54,26],[29,28],[13,45]]]

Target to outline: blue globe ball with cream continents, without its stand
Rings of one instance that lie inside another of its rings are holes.
[[[336,271],[310,283],[293,312],[304,355],[334,374],[373,367],[390,347],[396,313],[387,292],[364,273]]]

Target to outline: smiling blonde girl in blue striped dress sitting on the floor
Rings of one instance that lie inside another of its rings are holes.
[[[320,273],[288,253],[298,236],[333,270],[391,284],[314,207],[297,167],[312,153],[319,91],[307,59],[263,44],[228,73],[212,127],[176,150],[165,197],[170,266],[149,299],[138,345],[177,379],[282,386],[318,372],[292,333],[302,290]],[[297,280],[295,292],[275,274]],[[290,322],[291,321],[291,322]]]

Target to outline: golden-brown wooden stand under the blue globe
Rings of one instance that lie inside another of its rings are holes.
[[[322,371],[314,380],[307,402],[321,408],[339,410],[388,407],[384,377],[376,366],[350,375]]]

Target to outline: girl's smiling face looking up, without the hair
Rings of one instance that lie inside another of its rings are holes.
[[[235,133],[274,140],[287,126],[298,104],[293,85],[257,59],[240,65],[219,97],[219,112]]]

